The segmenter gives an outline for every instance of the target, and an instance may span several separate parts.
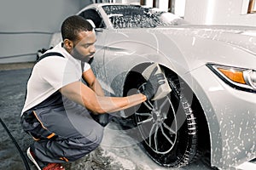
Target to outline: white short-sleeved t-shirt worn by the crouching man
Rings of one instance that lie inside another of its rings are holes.
[[[49,56],[41,59],[32,70],[32,75],[27,82],[26,101],[21,111],[21,115],[40,104],[51,94],[71,82],[81,80],[81,61],[74,59],[61,47],[61,42],[50,49],[47,53],[57,52],[64,56]],[[90,65],[84,63],[84,71],[88,71]]]

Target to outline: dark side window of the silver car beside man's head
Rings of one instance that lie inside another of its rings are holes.
[[[105,28],[106,25],[102,20],[102,16],[93,8],[84,10],[84,12],[80,13],[79,16],[84,17],[86,20],[92,20],[96,26],[96,28]]]

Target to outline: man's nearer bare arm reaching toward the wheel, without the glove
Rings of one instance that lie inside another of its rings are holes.
[[[67,84],[60,89],[60,92],[68,99],[72,99],[98,114],[121,111],[147,100],[147,97],[143,94],[134,94],[127,97],[99,96],[92,89],[84,85],[83,82],[79,81]]]

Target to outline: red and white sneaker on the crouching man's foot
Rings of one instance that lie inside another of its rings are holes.
[[[33,162],[33,164],[38,168],[38,170],[65,170],[60,163],[48,163],[44,161],[40,161],[34,155],[30,147],[26,150],[26,155]]]

